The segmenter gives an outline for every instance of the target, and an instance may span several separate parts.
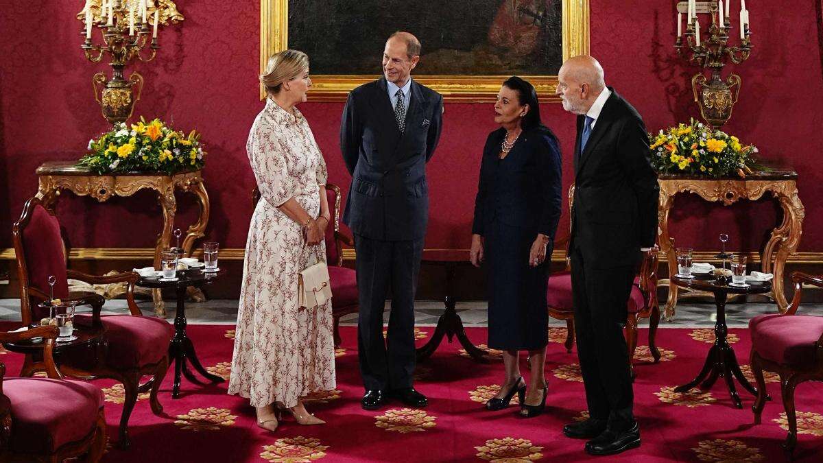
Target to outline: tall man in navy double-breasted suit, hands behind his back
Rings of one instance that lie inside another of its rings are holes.
[[[420,49],[408,32],[389,37],[383,77],[351,91],[340,127],[351,174],[343,222],[355,235],[364,409],[378,409],[389,397],[414,407],[428,404],[412,385],[414,297],[429,216],[425,163],[437,147],[443,97],[412,80]],[[392,310],[384,339],[389,288]]]

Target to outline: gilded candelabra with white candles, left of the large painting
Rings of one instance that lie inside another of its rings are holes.
[[[80,48],[86,58],[100,63],[105,54],[111,57],[111,79],[107,82],[104,72],[91,78],[95,100],[109,123],[124,122],[132,116],[134,103],[140,99],[143,77],[132,72],[126,80],[123,68],[133,59],[154,59],[160,49],[158,26],[176,24],[184,17],[171,0],[86,0],[77,19],[84,23],[81,34],[86,40]],[[100,44],[92,40],[95,26],[100,29]]]

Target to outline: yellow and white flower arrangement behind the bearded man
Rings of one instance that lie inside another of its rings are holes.
[[[734,135],[706,127],[695,119],[657,135],[649,134],[652,166],[663,174],[723,177],[762,169],[752,157],[757,148],[743,145]]]

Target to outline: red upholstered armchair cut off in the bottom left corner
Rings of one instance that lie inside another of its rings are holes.
[[[103,392],[87,382],[64,380],[52,358],[58,329],[40,326],[0,332],[0,342],[44,338],[48,378],[4,378],[0,363],[0,461],[63,461],[85,456],[100,461],[105,451]]]

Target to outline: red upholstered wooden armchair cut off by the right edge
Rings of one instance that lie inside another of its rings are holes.
[[[783,448],[791,459],[797,445],[797,416],[794,389],[804,381],[823,381],[823,316],[796,315],[803,283],[823,288],[823,275],[793,272],[794,297],[784,314],[756,316],[749,320],[751,332],[751,372],[757,380],[757,399],[751,410],[755,423],[766,401],[763,371],[780,376],[780,392],[788,419],[788,437]]]

